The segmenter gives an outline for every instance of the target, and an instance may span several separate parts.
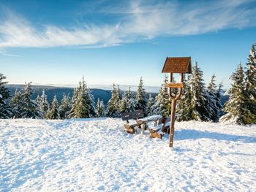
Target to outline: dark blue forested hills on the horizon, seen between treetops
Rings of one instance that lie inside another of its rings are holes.
[[[25,85],[9,85],[7,84],[7,88],[10,90],[11,94],[13,95],[15,93],[15,90],[21,90],[25,88]],[[48,96],[48,101],[53,100],[53,96],[57,96],[58,101],[60,102],[62,99],[63,94],[69,94],[70,97],[73,95],[74,88],[64,88],[64,87],[54,87],[54,86],[48,86],[48,85],[32,85],[32,99],[36,99],[37,95],[41,95],[42,91],[45,91],[45,94]],[[124,91],[121,91],[123,93]],[[91,93],[94,95],[94,100],[97,102],[98,98],[100,100],[103,99],[104,103],[107,104],[108,100],[111,97],[111,91],[110,90],[104,90],[99,88],[91,88]],[[136,94],[135,92],[132,92],[133,94]],[[148,94],[146,94],[146,97],[148,97]],[[157,93],[151,93],[152,96],[157,96]]]

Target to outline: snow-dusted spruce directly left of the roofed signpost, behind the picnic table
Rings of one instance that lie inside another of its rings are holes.
[[[162,115],[163,117],[170,115],[170,101],[167,88],[165,87],[166,82],[167,77],[165,77],[164,83],[162,83],[159,93],[156,96],[155,102],[151,107],[151,115]]]

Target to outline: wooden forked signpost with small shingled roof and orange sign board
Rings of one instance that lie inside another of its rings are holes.
[[[176,102],[181,97],[182,88],[184,88],[184,74],[191,74],[191,57],[175,57],[166,58],[165,65],[162,68],[162,73],[169,73],[169,82],[166,83],[168,88],[168,94],[170,96],[171,114],[170,114],[170,139],[169,147],[173,147],[173,137],[174,137],[174,123],[176,116]],[[180,82],[173,82],[173,74],[180,74]],[[172,93],[172,88],[178,88],[178,92]]]

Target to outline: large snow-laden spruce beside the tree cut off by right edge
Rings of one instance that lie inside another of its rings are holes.
[[[244,69],[241,64],[238,65],[236,72],[231,75],[233,80],[232,87],[227,91],[230,98],[225,103],[226,115],[222,116],[219,121],[233,121],[239,125],[246,123],[244,116],[247,114],[246,109],[246,92],[244,82]]]

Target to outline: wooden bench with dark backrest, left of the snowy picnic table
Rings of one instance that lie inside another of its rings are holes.
[[[130,124],[129,120],[138,120],[138,118],[143,118],[144,113],[143,110],[136,110],[134,112],[123,112],[121,113],[122,120],[126,120],[127,124],[124,125],[124,131],[127,131],[129,134],[135,134],[135,127],[139,127],[140,124],[134,123]]]

